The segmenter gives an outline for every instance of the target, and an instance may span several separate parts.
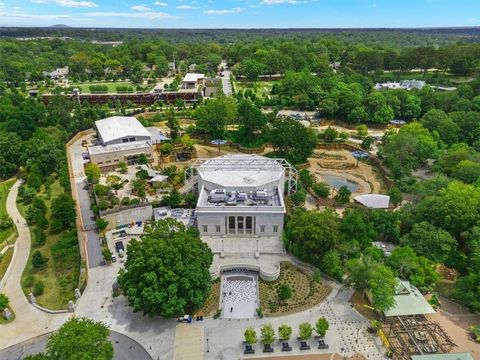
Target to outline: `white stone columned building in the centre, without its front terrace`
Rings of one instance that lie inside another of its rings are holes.
[[[258,155],[200,160],[193,176],[200,235],[280,238],[285,182],[288,192],[295,186],[293,171],[283,159]]]

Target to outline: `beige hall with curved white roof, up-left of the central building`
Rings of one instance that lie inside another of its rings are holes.
[[[99,145],[90,146],[90,161],[113,170],[121,161],[136,164],[141,154],[153,160],[152,133],[136,118],[112,116],[95,122]]]

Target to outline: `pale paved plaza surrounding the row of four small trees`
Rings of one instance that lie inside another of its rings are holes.
[[[352,295],[352,290],[341,288],[339,285],[331,285],[334,286],[334,289],[326,301],[312,309],[299,313],[263,319],[205,319],[201,323],[205,326],[205,338],[208,339],[210,350],[206,353],[205,359],[242,358],[244,350],[242,342],[245,329],[252,326],[257,331],[257,335],[260,336],[260,327],[263,324],[272,324],[275,330],[282,324],[292,327],[293,334],[290,346],[293,347],[293,350],[290,355],[338,353],[351,356],[354,352],[358,352],[369,360],[385,359],[383,355],[384,349],[380,347],[378,337],[374,337],[366,331],[369,324],[368,320],[353,309],[348,302]],[[300,351],[299,343],[296,340],[298,325],[303,322],[309,322],[313,325],[321,316],[327,318],[330,323],[330,328],[325,337],[325,342],[329,345],[329,349],[317,349],[317,344],[312,338],[309,341],[312,349],[310,351]],[[274,344],[274,349],[277,355],[281,354],[278,342]],[[245,357],[255,358],[263,355],[261,344],[257,344],[255,350],[256,356]]]

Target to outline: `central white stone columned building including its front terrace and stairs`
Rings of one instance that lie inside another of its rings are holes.
[[[238,269],[278,278],[284,194],[296,191],[296,175],[284,159],[247,154],[197,159],[186,170],[184,189],[198,194],[196,223],[214,254],[214,278]]]

